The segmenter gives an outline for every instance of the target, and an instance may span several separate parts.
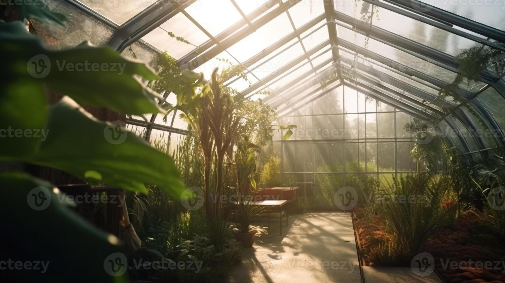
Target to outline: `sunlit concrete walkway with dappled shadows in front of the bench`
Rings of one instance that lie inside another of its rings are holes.
[[[271,218],[268,235],[245,249],[227,282],[361,282],[350,213],[314,212]],[[261,222],[266,225],[266,220]]]

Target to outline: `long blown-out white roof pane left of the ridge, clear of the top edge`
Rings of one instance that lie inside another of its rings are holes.
[[[266,23],[255,32],[233,44],[228,51],[240,62],[245,62],[252,55],[259,53],[280,38],[293,32],[286,13]]]

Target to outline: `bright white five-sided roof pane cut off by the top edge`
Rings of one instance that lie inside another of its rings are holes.
[[[213,36],[242,19],[229,0],[196,1],[185,11]]]

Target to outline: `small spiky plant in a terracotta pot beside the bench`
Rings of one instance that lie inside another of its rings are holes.
[[[233,214],[234,220],[238,223],[235,227],[235,239],[244,248],[252,247],[256,236],[268,233],[267,230],[260,226],[251,225],[251,221],[258,218],[265,210],[264,207],[251,204],[249,200],[245,200],[237,205],[237,211]]]

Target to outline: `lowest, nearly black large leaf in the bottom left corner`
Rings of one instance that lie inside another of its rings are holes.
[[[119,240],[67,209],[53,185],[20,172],[0,173],[0,184],[5,200],[0,212],[16,216],[2,221],[0,260],[33,263],[29,269],[2,270],[4,280],[126,282],[124,276],[109,275],[105,265],[108,257],[123,253]],[[36,207],[39,194],[45,199],[38,199]]]

